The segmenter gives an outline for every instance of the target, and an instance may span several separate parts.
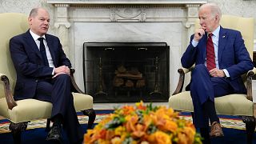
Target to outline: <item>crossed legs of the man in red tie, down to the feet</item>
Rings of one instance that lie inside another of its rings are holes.
[[[218,129],[221,129],[215,111],[214,98],[230,94],[232,90],[228,79],[210,77],[205,65],[201,64],[194,67],[190,83],[190,94],[194,105],[193,122],[197,128],[201,129],[202,137],[208,141],[206,143],[210,142],[209,120],[211,128],[217,123]]]

